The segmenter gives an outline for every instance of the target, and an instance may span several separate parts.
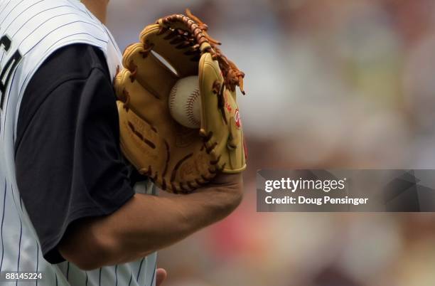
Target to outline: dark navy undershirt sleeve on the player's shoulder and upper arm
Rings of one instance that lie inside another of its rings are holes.
[[[71,223],[113,213],[134,195],[98,48],[62,48],[33,76],[18,116],[16,177],[50,263],[64,260],[57,245]]]

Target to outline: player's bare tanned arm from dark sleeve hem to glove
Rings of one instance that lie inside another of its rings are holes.
[[[240,174],[186,196],[136,194],[110,216],[77,222],[58,250],[84,270],[136,260],[225,218],[241,199]]]

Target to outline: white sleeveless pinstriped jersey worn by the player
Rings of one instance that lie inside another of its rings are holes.
[[[68,262],[51,265],[23,206],[14,164],[21,97],[43,60],[71,43],[99,47],[112,76],[121,65],[112,35],[80,1],[0,0],[0,271],[43,272],[43,280],[0,285],[155,285],[155,253],[92,271]]]

